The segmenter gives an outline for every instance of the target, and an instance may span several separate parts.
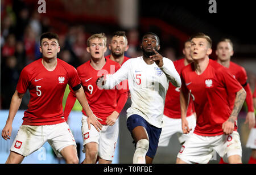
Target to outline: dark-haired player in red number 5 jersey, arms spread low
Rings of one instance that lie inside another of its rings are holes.
[[[24,112],[22,126],[6,163],[21,163],[24,157],[38,150],[46,141],[58,157],[64,157],[66,163],[79,163],[76,142],[63,115],[62,100],[67,84],[72,87],[93,125],[101,127],[101,123],[89,108],[76,69],[57,58],[60,46],[56,33],[42,34],[40,52],[43,57],[24,67],[20,73],[11,100],[9,116],[2,130],[2,137],[6,140],[10,139],[11,125],[22,97],[27,89],[30,92],[28,109]]]

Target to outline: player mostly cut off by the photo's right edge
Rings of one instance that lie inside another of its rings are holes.
[[[254,104],[254,108],[256,109],[256,84],[253,92],[253,104]],[[252,149],[251,157],[248,161],[248,164],[256,164],[256,125],[250,131],[250,135],[248,137],[246,147]]]

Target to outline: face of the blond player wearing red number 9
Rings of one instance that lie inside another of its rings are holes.
[[[106,52],[104,40],[97,38],[90,40],[90,46],[87,47],[86,50],[88,53],[90,53],[92,58],[104,58],[104,53]]]

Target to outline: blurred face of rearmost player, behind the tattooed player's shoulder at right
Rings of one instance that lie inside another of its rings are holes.
[[[221,61],[230,60],[233,54],[233,48],[229,42],[222,41],[217,45],[216,56],[218,56],[218,59]]]

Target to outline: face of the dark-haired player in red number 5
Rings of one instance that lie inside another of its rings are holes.
[[[60,46],[56,39],[43,39],[41,41],[40,52],[44,58],[57,58],[57,53],[60,52]]]

